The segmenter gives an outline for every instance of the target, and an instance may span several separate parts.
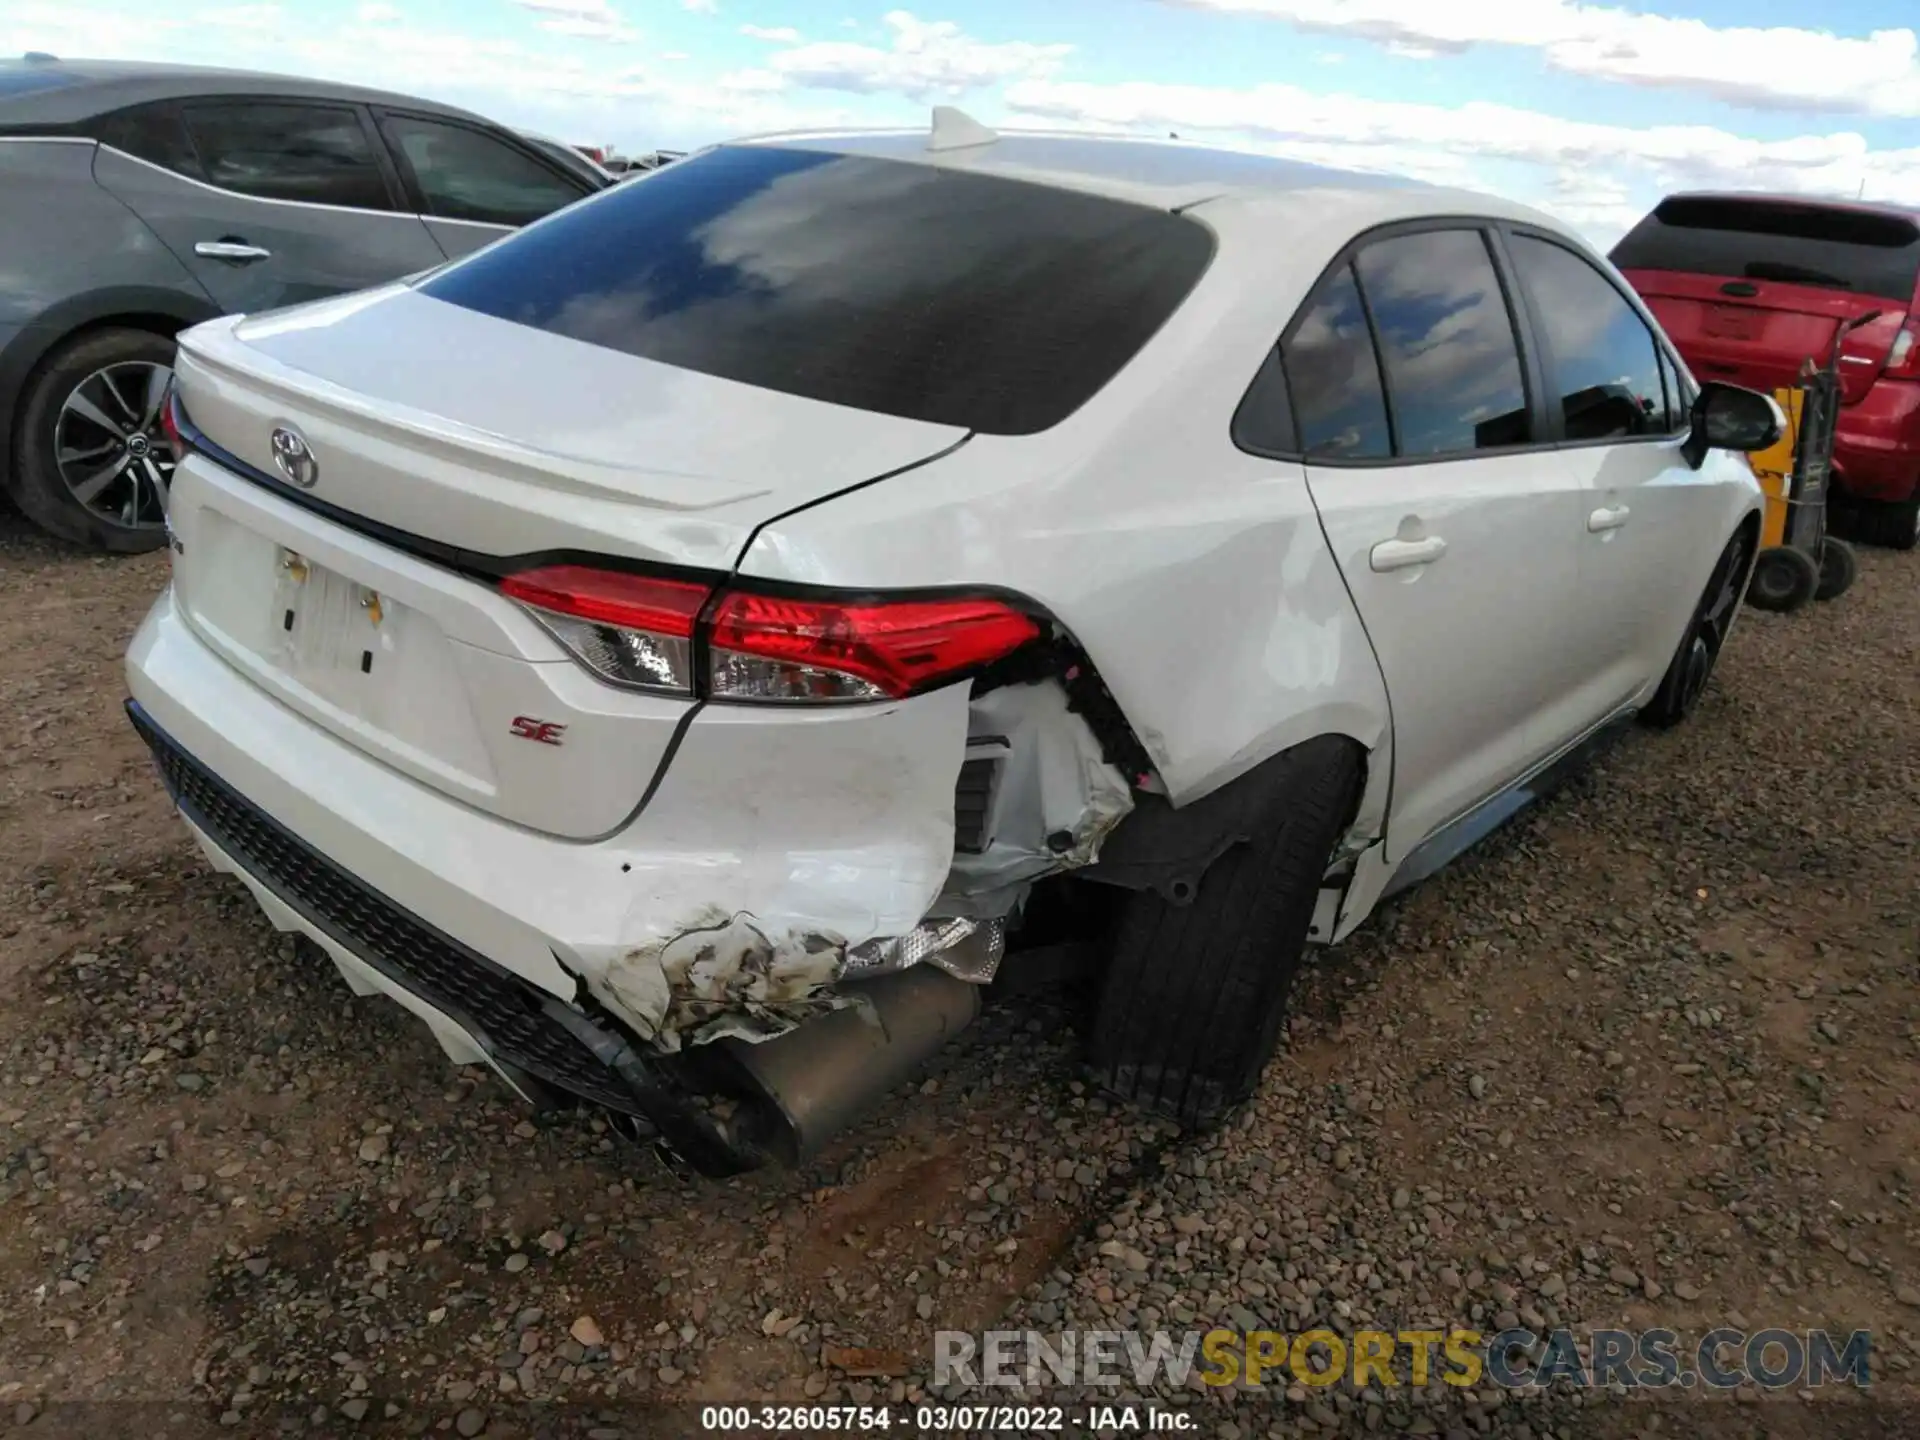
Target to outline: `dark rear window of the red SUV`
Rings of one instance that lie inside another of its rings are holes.
[[[1920,278],[1920,225],[1764,200],[1674,198],[1613,250],[1622,271],[1788,280],[1907,303]]]

